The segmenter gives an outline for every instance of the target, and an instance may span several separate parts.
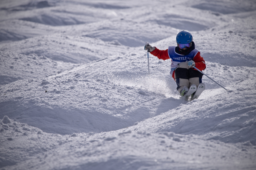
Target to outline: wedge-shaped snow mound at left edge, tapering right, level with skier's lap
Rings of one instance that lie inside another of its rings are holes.
[[[35,53],[22,55],[12,51],[0,51],[0,55],[0,85],[8,84],[18,79],[44,78],[77,66],[74,63],[54,61],[44,55],[37,56]]]

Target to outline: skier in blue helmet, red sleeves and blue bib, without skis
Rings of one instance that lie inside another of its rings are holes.
[[[198,70],[191,68],[195,66],[199,70],[206,68],[203,57],[200,52],[195,49],[195,43],[191,33],[188,31],[181,31],[176,36],[177,47],[170,46],[166,50],[159,50],[146,44],[144,49],[148,50],[150,54],[157,56],[162,60],[171,58],[170,74],[177,84],[177,90],[180,96],[186,95],[191,85],[198,85],[202,83],[203,74]]]

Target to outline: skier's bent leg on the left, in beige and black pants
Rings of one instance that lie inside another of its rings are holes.
[[[174,78],[177,84],[177,90],[180,93],[183,89],[188,91],[189,81],[188,81],[188,64],[186,62],[182,62],[175,69]]]

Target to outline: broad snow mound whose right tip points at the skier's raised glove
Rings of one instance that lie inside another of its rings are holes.
[[[99,51],[97,45],[101,46],[102,50]],[[61,50],[56,51],[56,48]],[[123,45],[120,47],[113,42],[104,42],[89,37],[63,36],[59,33],[2,43],[0,46],[0,49],[4,51],[15,49],[12,51],[16,53],[25,55],[35,53],[56,61],[71,63],[90,63],[93,60],[126,51],[122,48],[127,47]]]

